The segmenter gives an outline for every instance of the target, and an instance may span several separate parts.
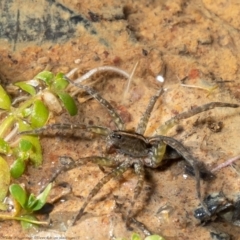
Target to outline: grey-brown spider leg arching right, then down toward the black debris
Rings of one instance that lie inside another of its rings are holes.
[[[195,179],[196,179],[196,191],[197,191],[197,197],[203,206],[204,210],[207,214],[210,214],[208,211],[208,208],[205,204],[205,202],[202,199],[201,195],[201,188],[200,188],[200,170],[199,170],[199,162],[193,158],[193,156],[188,152],[188,150],[176,139],[166,136],[156,136],[153,138],[150,138],[149,142],[151,141],[160,141],[159,145],[162,145],[161,141],[163,141],[165,144],[169,145],[170,147],[174,148],[182,157],[193,167]],[[207,170],[206,170],[207,172]],[[210,172],[209,172],[210,173]]]

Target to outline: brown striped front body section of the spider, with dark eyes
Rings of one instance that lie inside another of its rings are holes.
[[[131,157],[147,157],[152,147],[144,136],[126,131],[111,132],[107,141],[110,148]]]

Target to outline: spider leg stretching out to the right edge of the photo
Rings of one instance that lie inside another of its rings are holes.
[[[180,120],[192,117],[198,113],[205,112],[205,111],[208,111],[208,110],[216,108],[216,107],[238,108],[239,106],[240,105],[234,104],[234,103],[211,102],[211,103],[207,103],[202,106],[199,106],[199,107],[195,107],[191,110],[180,113],[180,114],[176,115],[175,117],[166,121],[162,126],[160,126],[159,128],[156,129],[154,135],[165,135],[168,132],[168,130],[170,130],[173,126],[175,126],[177,123],[179,123]]]

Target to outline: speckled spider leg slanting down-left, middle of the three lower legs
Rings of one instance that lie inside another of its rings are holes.
[[[120,164],[117,168],[113,169],[110,173],[105,175],[98,183],[97,185],[91,190],[91,192],[88,194],[86,200],[84,201],[81,209],[79,210],[78,214],[74,217],[72,225],[74,225],[83,215],[85,208],[87,207],[89,201],[100,191],[100,189],[109,182],[113,177],[121,176],[124,172],[126,172],[130,166],[131,161],[127,160]]]

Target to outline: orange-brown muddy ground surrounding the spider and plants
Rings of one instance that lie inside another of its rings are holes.
[[[157,101],[145,136],[194,106],[213,101],[239,102],[238,1],[2,1],[0,9],[5,10],[0,15],[3,84],[32,79],[46,69],[67,73],[78,68],[80,75],[110,65],[131,73],[139,61],[124,100],[127,81],[122,76],[105,72],[92,78],[101,96],[125,119],[126,128],[134,130],[159,88],[155,77],[166,64],[166,90]],[[181,85],[180,80],[186,76],[184,83],[195,88]],[[95,100],[82,102],[78,108],[77,116],[62,114],[54,121],[114,126],[106,109]],[[167,135],[182,142],[196,159],[213,169],[239,155],[239,113],[239,109],[213,109],[181,121],[183,131],[178,131],[178,126]],[[222,122],[219,132],[209,128],[209,119],[216,124]],[[59,167],[59,156],[101,156],[106,144],[99,137],[86,140],[56,136],[42,137],[42,147],[43,166],[29,167],[20,179],[35,193]],[[133,230],[127,229],[123,218],[137,183],[133,169],[106,184],[76,226],[68,226],[103,176],[91,163],[62,174],[57,182],[69,183],[73,193],[55,206],[49,216],[52,225],[24,232],[17,222],[1,222],[0,238],[130,239],[133,231],[143,236],[134,225]],[[223,191],[229,199],[235,199],[239,184],[239,172],[227,167],[216,172],[214,181],[203,182],[202,192],[206,196]],[[194,178],[184,174],[183,160],[174,161],[159,169],[146,169],[136,219],[167,240],[211,239],[210,232],[217,230],[238,239],[240,229],[230,223],[201,226],[193,216],[198,205]]]

